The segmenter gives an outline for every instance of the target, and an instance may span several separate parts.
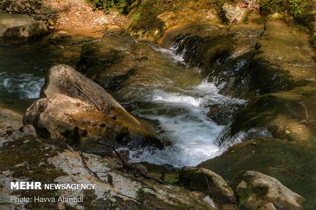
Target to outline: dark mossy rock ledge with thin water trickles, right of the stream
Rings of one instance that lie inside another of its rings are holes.
[[[203,36],[192,35],[189,31],[175,38],[174,42],[179,43],[176,53],[183,54],[189,65],[202,67],[202,76],[209,82],[225,84],[221,89],[225,95],[249,99],[298,85],[287,70],[272,66],[258,56],[260,50],[250,49],[239,56],[231,56],[239,48],[235,44],[237,33],[232,29],[224,34],[214,32]]]

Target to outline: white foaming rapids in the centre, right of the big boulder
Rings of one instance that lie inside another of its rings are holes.
[[[215,144],[224,126],[217,125],[207,117],[212,103],[245,103],[219,94],[213,83],[202,82],[178,92],[155,90],[143,99],[157,107],[144,108],[134,112],[141,118],[159,123],[156,133],[171,141],[163,150],[153,147],[133,149],[130,159],[133,162],[147,161],[155,164],[171,164],[175,167],[196,166],[207,159],[220,155],[223,151]]]

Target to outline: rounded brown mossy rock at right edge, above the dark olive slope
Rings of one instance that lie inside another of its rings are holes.
[[[316,136],[314,83],[292,91],[258,96],[236,114],[231,135],[255,127],[267,127],[276,138],[313,140]]]

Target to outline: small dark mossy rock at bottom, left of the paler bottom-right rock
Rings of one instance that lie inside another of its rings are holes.
[[[191,190],[208,192],[210,197],[215,197],[228,202],[236,202],[232,189],[227,185],[224,179],[205,168],[184,167],[179,174],[180,184]]]

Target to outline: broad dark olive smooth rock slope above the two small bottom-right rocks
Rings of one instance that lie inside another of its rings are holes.
[[[291,143],[281,139],[253,139],[235,144],[197,167],[212,170],[228,181],[247,170],[267,174],[305,197],[305,209],[312,210],[316,205],[314,149],[314,141],[309,140]]]

